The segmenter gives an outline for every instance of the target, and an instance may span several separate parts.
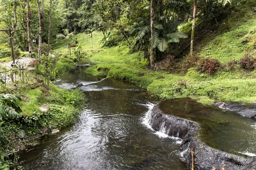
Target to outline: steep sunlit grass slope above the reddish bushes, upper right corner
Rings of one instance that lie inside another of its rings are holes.
[[[252,0],[241,3],[216,32],[207,34],[200,42],[197,50],[200,56],[225,63],[243,57],[245,51],[256,52],[256,3]]]

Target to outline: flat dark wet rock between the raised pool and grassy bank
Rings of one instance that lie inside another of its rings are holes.
[[[233,111],[245,117],[256,117],[256,105],[243,104],[239,102],[214,102],[214,106],[224,109],[226,111]]]

